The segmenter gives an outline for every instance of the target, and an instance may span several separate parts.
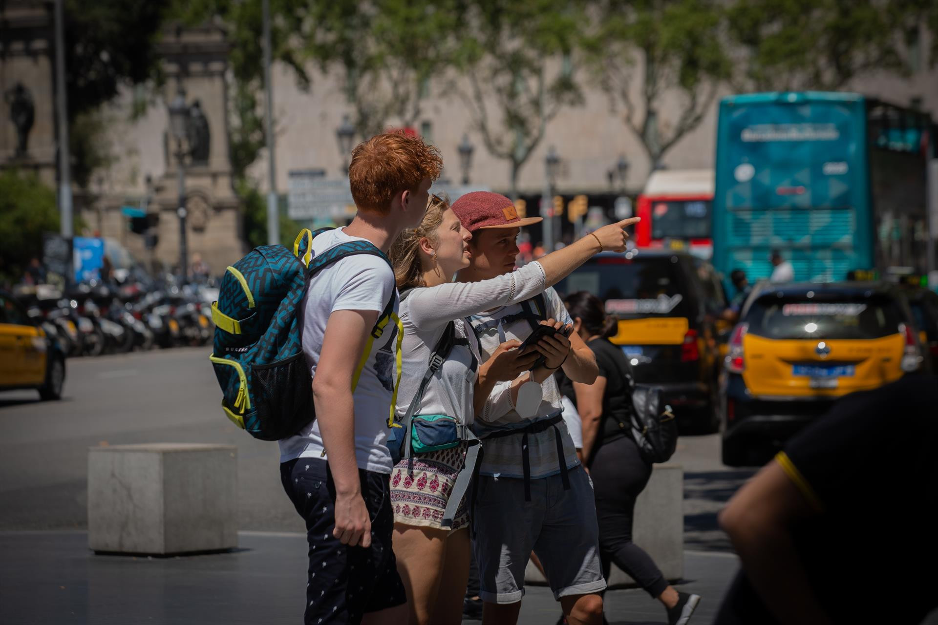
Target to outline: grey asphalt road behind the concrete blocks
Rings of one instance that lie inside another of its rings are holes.
[[[65,398],[0,394],[0,529],[81,529],[87,448],[140,442],[218,442],[238,448],[240,528],[302,531],[284,497],[277,445],[251,439],[219,409],[208,350],[156,350],[68,361]],[[728,550],[722,502],[751,475],[719,463],[716,435],[680,441],[688,549]]]

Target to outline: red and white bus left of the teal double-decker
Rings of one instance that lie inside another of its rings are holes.
[[[653,171],[638,200],[635,245],[679,247],[708,260],[713,187],[713,170]]]

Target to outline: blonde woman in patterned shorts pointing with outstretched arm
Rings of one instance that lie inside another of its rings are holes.
[[[474,194],[475,195],[475,194]],[[511,201],[491,195],[506,207]],[[506,209],[503,228],[537,223],[540,217],[519,218]],[[628,235],[616,224],[599,229],[522,269],[490,280],[453,282],[467,267],[472,235],[461,226],[448,202],[431,196],[427,214],[414,230],[404,231],[391,248],[404,328],[403,370],[397,410],[407,410],[428,370],[431,350],[455,325],[455,344],[427,384],[417,415],[448,415],[472,424],[486,402],[507,411],[537,359],[536,351],[520,352],[518,341],[507,341],[483,365],[475,335],[467,334],[462,318],[503,305],[522,302],[567,276],[602,249],[623,251]],[[511,245],[514,245],[513,243]],[[517,247],[515,248],[517,249]],[[553,320],[549,320],[553,322]],[[538,349],[543,349],[538,344]],[[549,373],[535,371],[536,379]],[[443,512],[456,476],[464,465],[467,444],[401,461],[391,474],[394,509],[394,553],[415,624],[457,624],[469,573],[469,508],[463,499],[451,527],[442,526]]]

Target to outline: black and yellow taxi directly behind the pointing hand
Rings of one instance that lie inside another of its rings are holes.
[[[719,425],[720,315],[726,296],[713,267],[683,251],[601,253],[557,285],[588,290],[618,321],[611,341],[637,382],[658,386],[684,429]]]

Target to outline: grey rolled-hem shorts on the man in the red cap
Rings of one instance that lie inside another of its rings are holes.
[[[473,522],[482,601],[522,600],[532,550],[554,599],[606,588],[593,484],[582,467],[570,469],[569,478],[569,490],[560,475],[531,480],[531,500],[525,501],[523,480],[479,476]]]

